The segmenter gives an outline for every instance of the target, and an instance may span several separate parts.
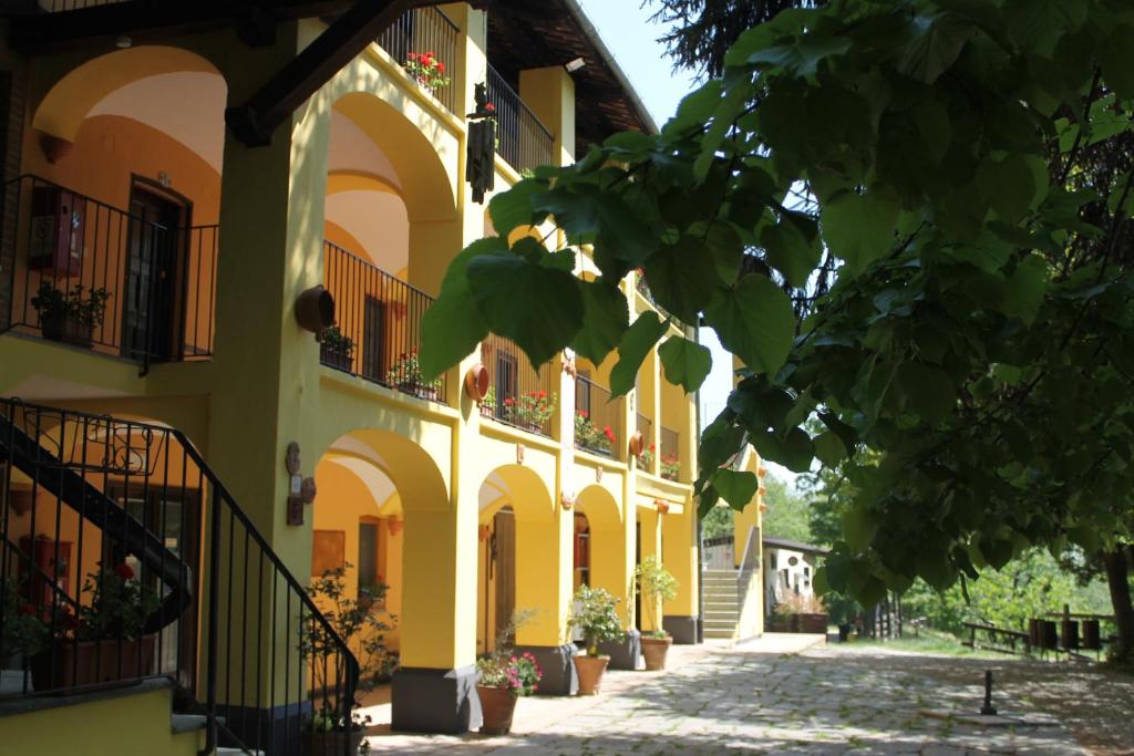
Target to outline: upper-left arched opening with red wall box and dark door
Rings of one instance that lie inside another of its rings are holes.
[[[144,363],[211,356],[227,91],[204,58],[156,45],[48,90],[6,193],[12,325]],[[60,323],[60,297],[94,322]]]

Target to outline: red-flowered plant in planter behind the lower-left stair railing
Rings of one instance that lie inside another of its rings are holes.
[[[91,598],[81,596],[75,618],[62,608],[41,610],[57,615],[42,618],[56,635],[32,659],[39,690],[132,680],[153,669],[158,636],[143,630],[158,611],[158,592],[122,562],[87,575],[83,594]]]

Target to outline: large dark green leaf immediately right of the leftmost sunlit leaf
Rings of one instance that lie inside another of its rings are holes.
[[[489,329],[515,341],[533,366],[567,347],[583,325],[579,281],[565,270],[486,255],[469,262],[468,283]]]

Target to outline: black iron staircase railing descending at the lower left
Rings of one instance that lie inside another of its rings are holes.
[[[0,595],[2,697],[166,677],[205,753],[350,720],[356,660],[179,431],[0,399]]]

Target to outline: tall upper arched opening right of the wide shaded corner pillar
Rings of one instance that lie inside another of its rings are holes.
[[[454,189],[435,145],[375,95],[347,94],[331,111],[323,236],[338,326],[323,364],[439,399],[416,351],[438,261],[462,246]]]

